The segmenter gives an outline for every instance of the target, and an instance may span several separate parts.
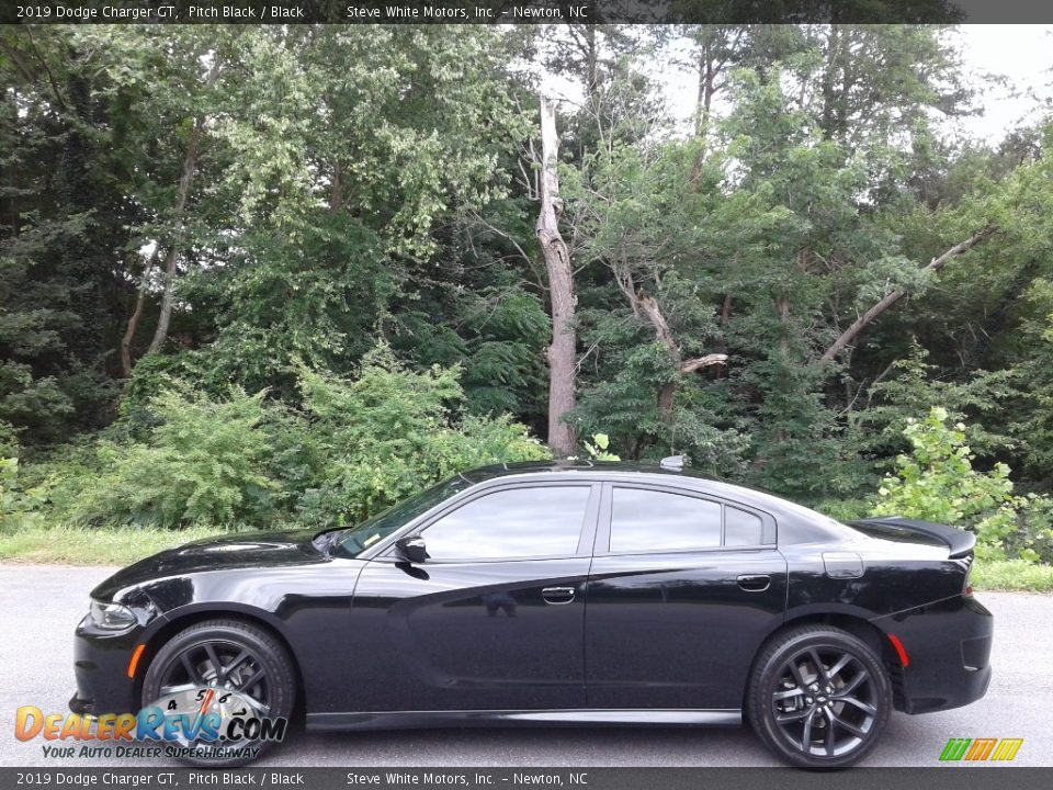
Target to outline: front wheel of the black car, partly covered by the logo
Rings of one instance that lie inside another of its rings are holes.
[[[219,672],[215,670],[214,658]],[[190,695],[186,689],[191,687],[215,688],[220,695],[230,689],[254,703],[252,713],[286,722],[296,702],[296,675],[285,647],[269,632],[240,620],[200,622],[161,645],[143,679],[141,704],[152,704],[173,692]],[[178,754],[177,759],[193,766],[233,768],[251,763],[274,744],[257,740],[238,745],[259,752],[254,756],[245,756],[244,751],[234,756]]]

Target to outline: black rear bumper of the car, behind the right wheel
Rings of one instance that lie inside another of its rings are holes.
[[[873,623],[895,636],[907,656],[906,666],[894,653],[891,661],[897,710],[960,708],[987,692],[994,618],[973,597],[955,596]]]

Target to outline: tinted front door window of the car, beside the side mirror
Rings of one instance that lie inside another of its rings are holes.
[[[421,534],[434,560],[571,556],[588,486],[514,488],[473,499]]]

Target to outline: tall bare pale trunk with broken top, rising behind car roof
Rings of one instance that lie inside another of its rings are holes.
[[[552,302],[552,343],[548,346],[548,444],[558,455],[570,455],[575,450],[574,429],[563,416],[575,407],[575,363],[577,337],[574,329],[574,273],[570,250],[559,233],[559,179],[556,165],[559,138],[556,135],[556,111],[547,100],[541,100],[541,210],[537,214],[537,242],[545,258],[548,274],[548,295]]]

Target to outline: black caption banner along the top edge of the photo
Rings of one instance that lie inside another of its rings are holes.
[[[1053,22],[1041,0],[15,0],[5,24]]]

